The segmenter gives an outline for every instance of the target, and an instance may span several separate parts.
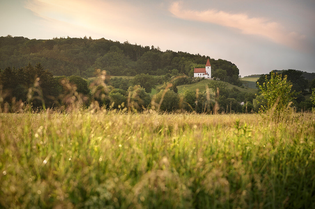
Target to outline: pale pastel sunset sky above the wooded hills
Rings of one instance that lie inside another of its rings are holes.
[[[0,36],[128,40],[228,60],[242,77],[315,72],[314,0],[0,0],[0,15]]]

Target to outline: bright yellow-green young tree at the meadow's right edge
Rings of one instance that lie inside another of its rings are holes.
[[[295,91],[291,92],[292,83],[287,81],[287,76],[282,78],[281,74],[271,72],[270,80],[262,83],[258,83],[258,87],[267,100],[267,107],[272,108],[276,105],[276,110],[283,110],[290,101],[295,99]],[[266,76],[267,79],[267,76]]]

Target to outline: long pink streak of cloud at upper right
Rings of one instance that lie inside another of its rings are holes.
[[[258,35],[275,43],[301,48],[304,35],[287,31],[281,24],[264,18],[250,18],[244,13],[227,13],[215,9],[196,11],[183,9],[180,2],[174,2],[169,11],[177,18],[200,21],[239,29],[243,34]]]

